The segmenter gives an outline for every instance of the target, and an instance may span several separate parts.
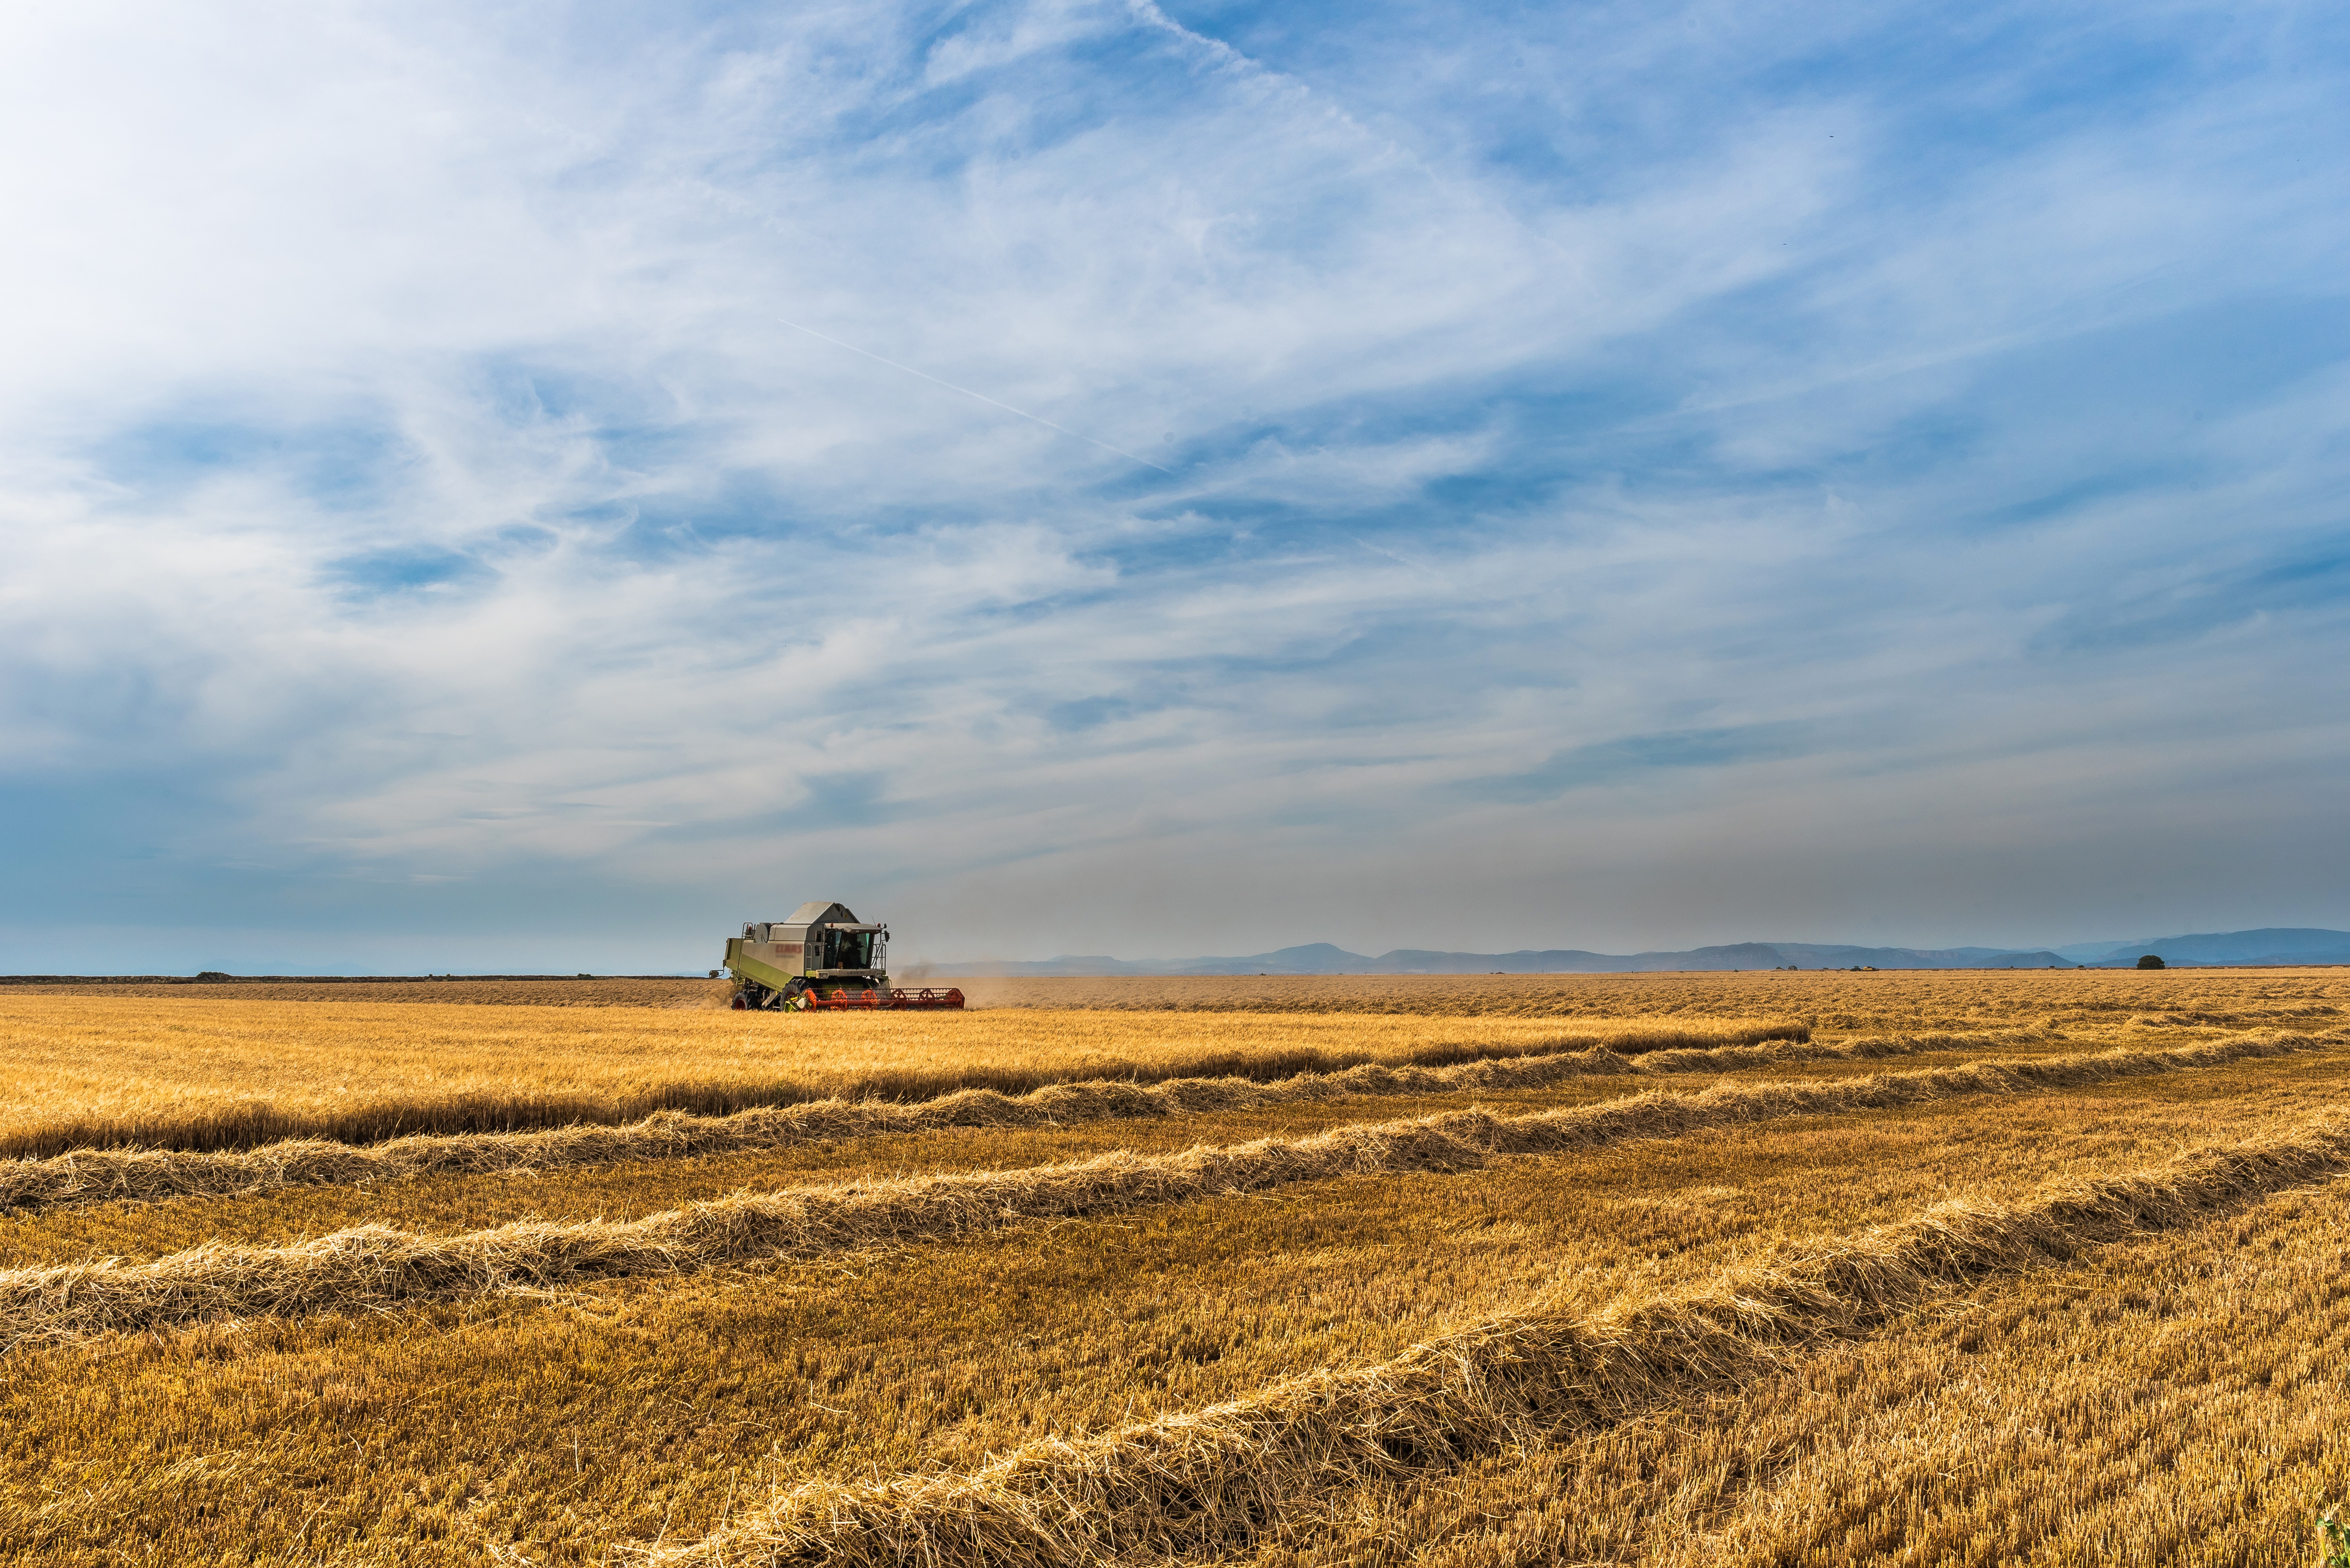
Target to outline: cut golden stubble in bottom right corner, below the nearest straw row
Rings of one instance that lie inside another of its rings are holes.
[[[2350,1183],[1934,1296],[1868,1338],[1455,1474],[1253,1568],[2303,1568],[2343,1498]]]

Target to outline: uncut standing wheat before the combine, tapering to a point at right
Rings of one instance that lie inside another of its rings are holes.
[[[0,1157],[378,1143],[822,1099],[1807,1040],[1786,1019],[731,1014],[0,995]]]

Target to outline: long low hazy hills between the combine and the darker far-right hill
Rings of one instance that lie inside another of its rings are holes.
[[[2136,962],[2136,953],[2131,953]],[[1241,958],[1046,958],[931,965],[938,974],[1074,976],[1074,974],[1654,974],[1661,969],[2047,969],[2073,967],[2044,948],[1854,948],[1814,941],[1739,941],[1678,953],[1586,953],[1546,948],[1518,953],[1436,953],[1391,948],[1349,953],[1328,941],[1246,953]]]

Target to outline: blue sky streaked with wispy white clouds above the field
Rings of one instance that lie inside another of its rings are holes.
[[[2350,16],[26,5],[0,969],[2350,927]]]

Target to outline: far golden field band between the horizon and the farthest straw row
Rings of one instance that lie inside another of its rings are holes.
[[[395,991],[430,998],[456,984]],[[611,984],[540,986],[555,995]],[[155,995],[7,986],[0,1157],[618,1124],[656,1110],[726,1115],[973,1087],[1022,1094],[1086,1077],[1267,1080],[1593,1045],[1711,1049],[1812,1030],[2117,1042],[2115,1033],[2138,1030],[2324,1028],[2350,1005],[2338,969],[1001,984],[1095,1009],[1039,1012],[1029,998],[992,1014],[778,1019],[602,1000],[562,1012],[360,1002],[357,988],[336,986],[315,988],[329,995],[322,1005],[249,1000],[240,986],[212,988],[223,998],[195,995],[202,986]],[[1191,1012],[1130,1012],[1154,1000]],[[1248,1007],[1262,1012],[1236,1012]]]

